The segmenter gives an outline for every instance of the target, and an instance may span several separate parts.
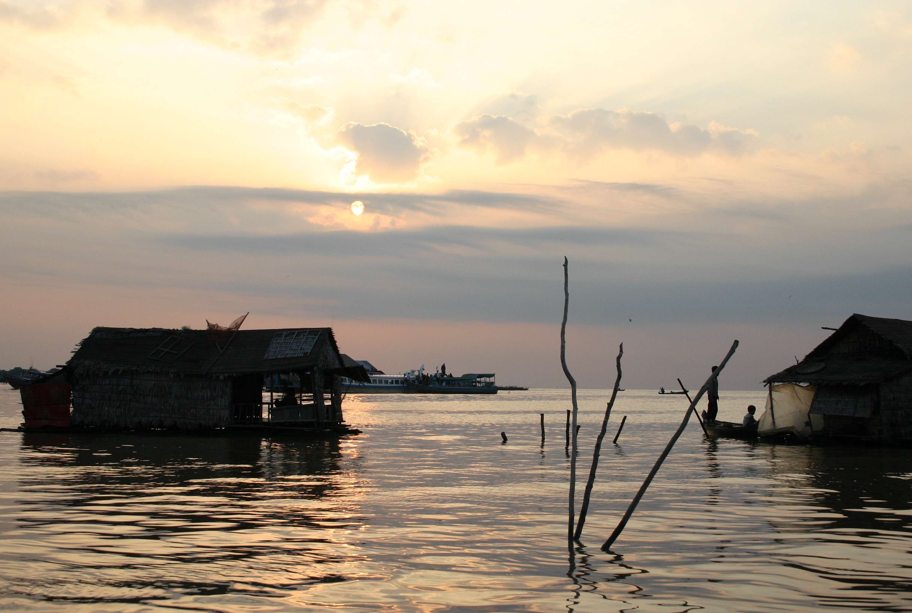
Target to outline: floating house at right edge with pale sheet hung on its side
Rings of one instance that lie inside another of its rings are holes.
[[[912,440],[912,322],[856,313],[764,383],[761,435]]]

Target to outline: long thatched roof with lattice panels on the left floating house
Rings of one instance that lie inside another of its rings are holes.
[[[67,366],[76,372],[288,373],[319,363],[326,343],[336,359],[325,366],[343,369],[332,328],[239,330],[217,336],[205,330],[95,328]]]

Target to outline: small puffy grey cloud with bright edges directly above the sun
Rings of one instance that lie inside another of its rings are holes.
[[[374,183],[409,182],[431,157],[423,138],[387,123],[350,121],[339,128],[336,142],[357,155],[353,174],[367,175]]]

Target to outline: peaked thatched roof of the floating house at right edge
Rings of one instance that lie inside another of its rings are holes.
[[[883,339],[878,352],[844,353],[834,348],[862,328]],[[804,359],[763,383],[880,383],[912,371],[912,322],[855,313]]]

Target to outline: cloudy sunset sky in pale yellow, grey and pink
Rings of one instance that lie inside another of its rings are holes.
[[[566,256],[582,387],[760,390],[912,319],[910,74],[907,2],[0,0],[0,368],[249,311],[562,387]]]

